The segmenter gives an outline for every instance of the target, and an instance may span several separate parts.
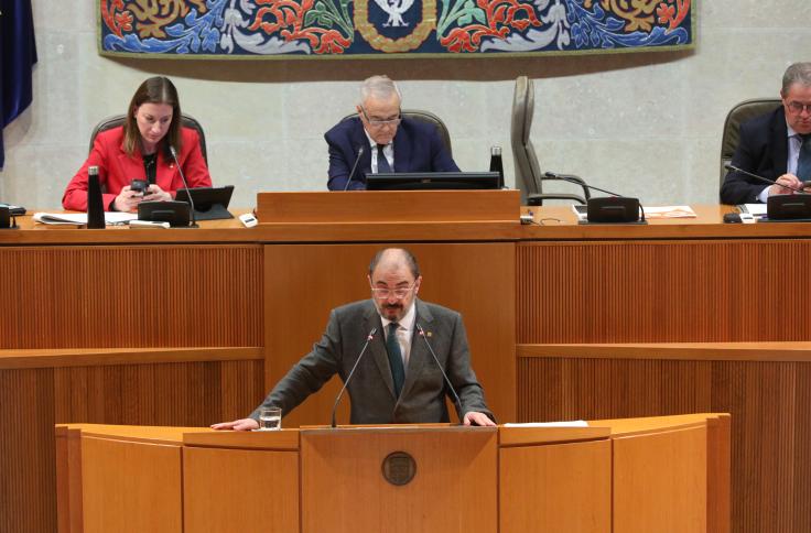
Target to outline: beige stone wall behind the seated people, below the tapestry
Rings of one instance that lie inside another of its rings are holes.
[[[353,110],[357,81],[387,73],[404,107],[437,112],[456,162],[485,170],[505,146],[516,76],[536,79],[532,140],[544,170],[574,173],[647,204],[716,203],[724,117],[735,102],[777,96],[811,37],[807,0],[695,1],[694,52],[533,59],[139,61],[96,51],[97,2],[35,0],[40,63],[33,106],[4,130],[0,198],[60,206],[93,126],[123,112],[145,77],[172,77],[183,109],[206,128],[215,184],[235,206],[259,191],[322,191],[322,135]]]

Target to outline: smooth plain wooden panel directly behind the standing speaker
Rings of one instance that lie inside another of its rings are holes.
[[[270,390],[323,334],[329,309],[369,298],[369,261],[387,244],[277,244],[266,249],[266,384]],[[393,244],[398,246],[398,244]],[[399,244],[402,246],[402,244]],[[515,243],[413,243],[419,296],[462,313],[473,368],[488,405],[515,418]],[[358,346],[359,350],[360,347]],[[331,380],[284,423],[327,424],[339,380]],[[339,421],[347,423],[348,398]],[[453,412],[453,410],[451,410]],[[453,415],[452,415],[453,418]]]

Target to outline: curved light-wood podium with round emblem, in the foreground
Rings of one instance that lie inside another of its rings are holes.
[[[56,427],[60,532],[727,532],[729,418]],[[410,480],[409,480],[410,478]]]

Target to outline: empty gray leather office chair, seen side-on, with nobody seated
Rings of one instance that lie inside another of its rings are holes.
[[[534,112],[534,85],[527,76],[516,78],[516,91],[512,96],[512,122],[510,126],[510,144],[516,167],[516,187],[521,192],[521,203],[530,206],[543,205],[544,199],[565,199],[585,204],[590,198],[588,188],[577,176],[564,174],[583,187],[583,196],[575,194],[544,194],[542,182],[554,180],[547,177],[538,164],[536,149],[530,140],[532,113]]]

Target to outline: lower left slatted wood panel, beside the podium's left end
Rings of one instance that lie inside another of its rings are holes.
[[[0,533],[56,531],[54,424],[206,426],[264,395],[263,362],[0,371]]]

